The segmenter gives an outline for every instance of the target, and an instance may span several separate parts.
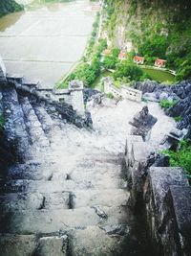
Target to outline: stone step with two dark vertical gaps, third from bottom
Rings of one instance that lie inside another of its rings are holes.
[[[127,205],[129,192],[122,189],[76,190],[60,193],[10,193],[0,196],[0,211],[69,209],[86,206]]]

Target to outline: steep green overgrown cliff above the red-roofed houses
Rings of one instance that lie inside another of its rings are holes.
[[[147,62],[166,58],[178,80],[191,78],[191,5],[178,0],[105,0],[105,29],[113,40],[131,40]],[[120,45],[121,46],[121,45]]]

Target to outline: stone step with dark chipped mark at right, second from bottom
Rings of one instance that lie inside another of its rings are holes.
[[[67,231],[89,225],[104,227],[125,224],[129,220],[126,206],[95,206],[63,210],[23,210],[0,216],[2,233],[32,234]]]

